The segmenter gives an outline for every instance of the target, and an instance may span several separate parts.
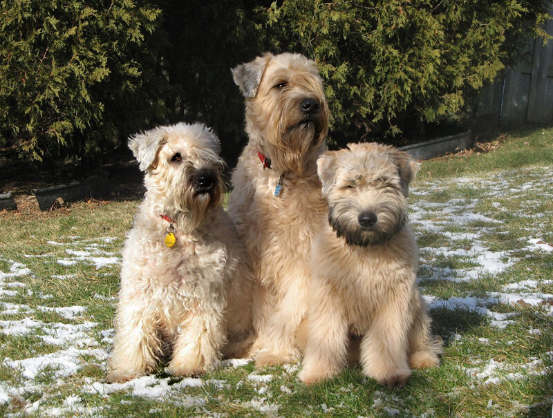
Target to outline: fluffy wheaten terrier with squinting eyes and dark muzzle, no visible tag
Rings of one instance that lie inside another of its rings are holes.
[[[409,182],[419,164],[391,146],[349,144],[319,158],[328,217],[311,252],[303,370],[306,384],[346,364],[361,338],[363,372],[402,386],[411,368],[438,365],[441,345],[416,281],[418,248],[407,221]]]

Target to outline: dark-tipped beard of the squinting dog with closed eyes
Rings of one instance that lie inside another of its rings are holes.
[[[328,206],[328,222],[338,238],[344,238],[346,244],[368,247],[387,243],[400,232],[407,221],[407,213],[395,208],[379,208],[378,221],[371,229],[362,228],[357,222],[359,211],[353,216],[341,211],[339,205]]]

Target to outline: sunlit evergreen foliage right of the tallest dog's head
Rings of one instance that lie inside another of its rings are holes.
[[[534,37],[543,1],[284,0],[265,8],[274,50],[315,59],[332,137],[393,141],[458,113]]]

